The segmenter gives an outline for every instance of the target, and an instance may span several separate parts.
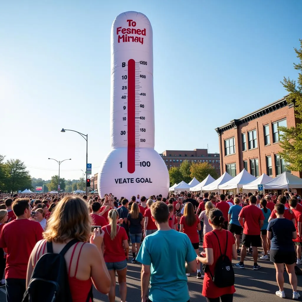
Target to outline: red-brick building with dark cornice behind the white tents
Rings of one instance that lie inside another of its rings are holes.
[[[288,171],[287,163],[278,154],[278,126],[295,127],[297,120],[294,104],[288,104],[286,97],[215,129],[221,174],[227,171],[235,176],[244,168],[254,176],[266,173],[276,177]],[[292,174],[302,176],[300,172]]]

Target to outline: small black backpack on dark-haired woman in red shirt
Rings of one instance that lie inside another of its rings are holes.
[[[220,249],[220,256],[217,259],[215,268],[214,268],[214,276],[212,276],[210,269],[207,271],[209,272],[214,284],[219,287],[228,287],[235,284],[235,274],[232,262],[230,261],[229,257],[226,256],[226,249],[227,249],[227,231],[226,231],[226,249],[224,251],[224,254],[221,252],[220,242],[218,239],[218,236],[213,231],[214,235],[216,236],[219,244]]]

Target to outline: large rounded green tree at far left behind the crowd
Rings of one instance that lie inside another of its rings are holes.
[[[10,159],[5,163],[8,174],[8,190],[12,192],[31,188],[31,176],[20,159]]]

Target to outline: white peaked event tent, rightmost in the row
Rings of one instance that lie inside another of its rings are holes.
[[[265,183],[263,188],[266,189],[298,189],[302,188],[302,179],[288,172],[273,178]]]

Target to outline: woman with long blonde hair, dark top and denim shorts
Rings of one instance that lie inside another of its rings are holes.
[[[143,215],[140,213],[140,208],[136,202],[133,202],[131,211],[127,215],[129,227],[129,236],[132,243],[132,263],[137,263],[136,252],[140,250],[140,241],[142,240],[142,227],[144,226]]]

